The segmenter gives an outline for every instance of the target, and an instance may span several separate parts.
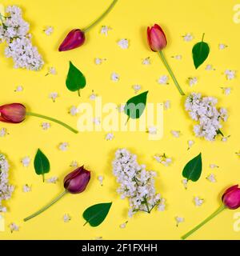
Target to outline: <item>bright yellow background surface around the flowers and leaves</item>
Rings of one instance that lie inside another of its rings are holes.
[[[134,95],[131,88],[140,84],[142,91],[149,90],[148,102],[171,101],[171,109],[164,112],[164,137],[160,141],[148,140],[146,133],[114,133],[112,142],[105,140],[105,132],[73,134],[52,124],[50,130],[42,130],[42,120],[26,118],[19,125],[1,123],[10,133],[0,138],[0,150],[10,159],[10,182],[16,186],[13,198],[6,203],[9,212],[5,214],[6,226],[15,222],[20,226],[18,232],[0,233],[1,239],[179,239],[182,234],[193,228],[211,214],[218,206],[222,191],[239,182],[239,161],[235,154],[239,145],[239,96],[240,84],[237,78],[227,81],[223,74],[226,69],[238,70],[240,24],[233,22],[233,7],[238,1],[230,0],[176,0],[138,1],[119,0],[114,10],[86,34],[86,44],[78,50],[58,53],[58,45],[66,33],[73,28],[87,26],[106,6],[108,1],[70,0],[62,1],[2,1],[7,6],[18,4],[22,7],[24,18],[30,22],[30,31],[34,35],[34,44],[38,46],[46,65],[40,72],[14,70],[10,59],[4,57],[4,45],[0,46],[1,94],[0,103],[22,102],[35,112],[47,114],[77,125],[77,117],[68,114],[70,106],[80,102],[90,102],[89,96],[94,90],[102,96],[103,102],[126,102]],[[229,141],[216,142],[194,138],[193,122],[184,111],[184,98],[178,94],[173,82],[169,86],[158,85],[156,80],[167,74],[158,55],[151,52],[146,43],[146,27],[158,23],[166,31],[168,46],[165,54],[186,93],[198,91],[219,99],[219,106],[225,106],[230,113],[228,122],[224,123],[223,133],[230,135]],[[109,36],[99,33],[102,25],[110,26]],[[42,30],[54,26],[54,34],[46,36]],[[192,42],[184,42],[182,35],[194,34]],[[195,42],[205,33],[205,41],[210,44],[210,56],[198,69],[194,69],[191,49]],[[130,48],[122,50],[117,42],[121,38],[130,40]],[[218,44],[225,43],[226,50],[218,50]],[[170,58],[182,54],[182,60]],[[150,57],[152,64],[143,66],[142,59]],[[94,63],[94,58],[106,58],[101,66]],[[82,97],[66,89],[65,79],[69,61],[72,61],[86,75],[87,86],[82,90]],[[215,71],[206,71],[206,64],[212,64]],[[45,77],[47,69],[55,66],[58,74]],[[110,74],[120,74],[120,81],[114,83]],[[190,88],[187,78],[196,76],[198,85]],[[16,86],[22,85],[22,92],[14,92]],[[222,94],[220,86],[230,86],[232,94]],[[48,95],[57,91],[60,97],[52,102]],[[94,104],[92,102],[92,104]],[[170,130],[181,130],[182,136],[174,138]],[[194,139],[195,145],[187,149],[187,140]],[[58,150],[61,142],[69,142],[66,152]],[[146,163],[148,169],[158,173],[156,187],[166,198],[166,211],[153,211],[149,214],[136,214],[130,219],[126,229],[119,225],[127,218],[128,202],[121,200],[115,192],[118,185],[112,174],[111,162],[114,151],[126,147],[138,154],[138,162]],[[51,170],[46,178],[58,176],[57,185],[42,182],[34,173],[33,159],[40,148],[50,159]],[[196,183],[189,182],[187,190],[182,186],[182,168],[191,158],[202,152],[202,177]],[[154,154],[166,153],[174,158],[170,167],[164,167],[154,161]],[[21,159],[30,156],[31,163],[22,167]],[[62,178],[72,170],[70,162],[77,160],[92,171],[87,190],[78,195],[66,195],[44,214],[29,222],[22,221],[27,215],[38,210],[62,191]],[[210,163],[220,166],[210,170]],[[216,183],[206,180],[210,173],[216,174]],[[97,176],[104,176],[104,185],[100,186]],[[22,186],[29,184],[32,192],[23,193]],[[201,207],[194,206],[193,198],[199,196],[205,202]],[[113,202],[110,214],[98,227],[82,226],[82,212],[86,207],[98,202]],[[236,210],[238,211],[238,210]],[[62,221],[63,214],[70,214],[69,223]],[[181,216],[185,222],[176,227],[174,218]],[[226,210],[210,223],[198,230],[192,239],[238,239],[235,232],[234,211]]]

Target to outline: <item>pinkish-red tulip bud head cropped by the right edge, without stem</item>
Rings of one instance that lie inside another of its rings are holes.
[[[222,195],[222,202],[230,210],[240,207],[240,188],[238,185],[231,186],[225,191]]]

